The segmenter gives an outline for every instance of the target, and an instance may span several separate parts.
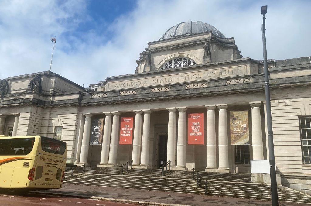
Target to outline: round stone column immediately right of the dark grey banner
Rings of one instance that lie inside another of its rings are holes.
[[[104,134],[103,134],[103,145],[101,147],[100,165],[108,164],[111,123],[112,123],[112,116],[113,116],[113,114],[111,113],[104,113],[104,114],[106,115],[106,117],[105,117]]]

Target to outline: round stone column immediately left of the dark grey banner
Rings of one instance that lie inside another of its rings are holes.
[[[89,155],[89,145],[90,145],[90,132],[91,132],[91,121],[92,116],[90,113],[84,114],[85,122],[82,137],[81,155],[79,164],[87,164],[87,157]]]

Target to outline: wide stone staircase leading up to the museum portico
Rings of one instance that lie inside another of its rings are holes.
[[[168,171],[165,177],[162,170],[131,169],[121,174],[120,168],[83,167],[66,172],[65,183],[95,185],[105,187],[122,187],[167,192],[204,194],[204,184],[200,188],[192,180],[192,171]],[[271,199],[270,185],[252,183],[251,174],[200,172],[207,180],[207,194],[250,199]],[[278,185],[279,201],[311,204],[311,196]]]

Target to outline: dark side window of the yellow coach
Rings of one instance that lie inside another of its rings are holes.
[[[34,147],[35,138],[0,139],[0,155],[27,155]]]

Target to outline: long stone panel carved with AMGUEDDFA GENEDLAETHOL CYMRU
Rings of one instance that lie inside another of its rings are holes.
[[[146,77],[126,81],[108,82],[108,90],[128,89],[137,87],[149,87],[167,85],[182,82],[202,81],[208,79],[234,77],[247,74],[246,65],[220,69],[187,72],[174,75],[162,75],[158,77]]]

